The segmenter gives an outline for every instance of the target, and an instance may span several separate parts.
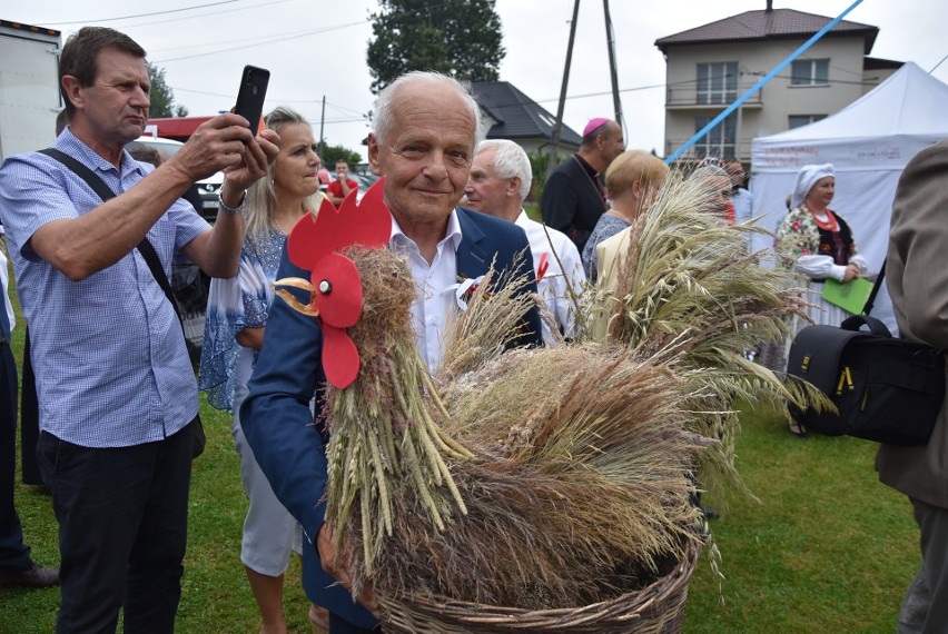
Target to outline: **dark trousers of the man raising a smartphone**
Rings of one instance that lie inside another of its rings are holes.
[[[47,432],[38,454],[59,522],[56,631],[171,633],[181,596],[194,425],[155,443],[80,447]]]

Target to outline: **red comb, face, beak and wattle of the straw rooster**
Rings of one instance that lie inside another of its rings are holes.
[[[392,214],[382,200],[385,179],[379,178],[356,204],[350,191],[338,210],[323,199],[314,219],[303,216],[286,240],[289,261],[310,273],[309,280],[287,278],[278,286],[309,290],[309,303],[300,304],[286,290],[277,290],[290,307],[319,319],[323,328],[323,369],[338,388],[348,387],[358,376],[359,358],[346,328],[362,314],[362,279],[355,264],[338,251],[355,245],[386,246],[392,236]]]

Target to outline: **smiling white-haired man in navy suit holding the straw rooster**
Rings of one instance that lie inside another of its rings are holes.
[[[481,136],[477,105],[460,83],[432,72],[408,73],[378,95],[375,112],[369,166],[386,177],[383,198],[393,218],[389,247],[408,258],[417,287],[412,313],[418,350],[434,370],[443,351],[441,333],[456,306],[455,294],[445,290],[460,278],[484,275],[495,259],[497,268],[532,276],[530,246],[515,225],[456,207]],[[308,278],[309,273],[284,254],[277,277]],[[529,291],[535,289],[531,284]],[[525,343],[540,343],[536,309],[524,330]],[[344,569],[333,568],[335,541],[324,524],[322,499],[326,438],[322,425],[313,425],[309,409],[325,382],[322,346],[316,319],[275,301],[240,418],[274,492],[312,543],[304,547],[307,596],[329,610],[333,634],[368,632],[376,627],[375,617],[320,569],[322,558],[323,568],[346,579]]]

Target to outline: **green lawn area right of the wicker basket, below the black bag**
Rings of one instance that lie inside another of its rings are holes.
[[[722,592],[707,561],[685,632],[895,632],[919,562],[908,499],[879,484],[876,445],[791,436],[745,409],[738,467],[760,503],[739,499],[711,525]],[[713,501],[708,501],[713,506]]]

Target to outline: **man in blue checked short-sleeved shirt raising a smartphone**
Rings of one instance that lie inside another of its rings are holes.
[[[125,150],[148,121],[151,86],[137,42],[82,28],[62,49],[59,78],[69,126],[55,149],[92,174],[40,152],[0,167],[40,404],[37,453],[59,522],[57,632],[115,632],[122,608],[126,632],[171,633],[198,395],[178,315],[141,248],[151,245],[166,275],[184,257],[231,277],[245,190],[266,175],[279,138],[220,115],[151,169]],[[211,228],[180,197],[220,170]],[[88,185],[97,178],[113,198],[103,202]]]

